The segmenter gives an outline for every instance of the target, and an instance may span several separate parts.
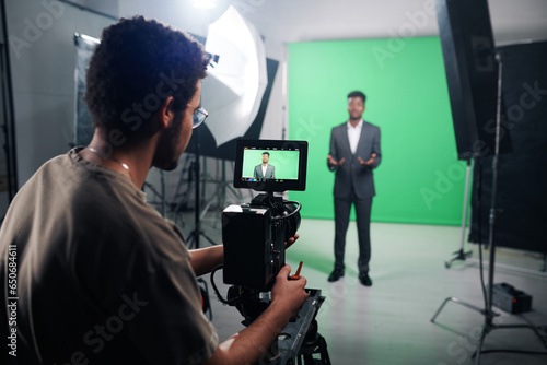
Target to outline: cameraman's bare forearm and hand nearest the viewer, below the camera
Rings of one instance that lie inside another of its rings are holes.
[[[307,299],[306,280],[288,280],[290,272],[289,266],[279,271],[268,308],[249,327],[222,342],[206,365],[255,364],[259,360]]]

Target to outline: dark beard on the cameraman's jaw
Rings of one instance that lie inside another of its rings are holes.
[[[177,145],[183,129],[183,113],[177,114],[172,126],[163,131],[155,148],[152,166],[166,172],[172,172],[178,166]]]

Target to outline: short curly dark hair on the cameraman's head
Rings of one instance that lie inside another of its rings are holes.
[[[142,16],[103,31],[86,74],[84,101],[94,127],[136,138],[166,97],[182,114],[206,76],[209,57],[191,36]]]

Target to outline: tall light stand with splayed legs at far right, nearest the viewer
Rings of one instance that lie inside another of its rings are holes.
[[[486,308],[480,309],[476,306],[473,306],[468,303],[459,301],[455,297],[446,298],[441,307],[437,310],[435,315],[431,318],[431,322],[434,322],[437,316],[444,307],[444,305],[452,301],[456,304],[462,304],[470,309],[477,310],[485,316],[485,321],[482,323],[482,329],[480,332],[480,338],[477,342],[477,350],[475,351],[475,364],[478,365],[480,363],[480,354],[482,351],[482,344],[485,343],[485,339],[491,331],[496,329],[516,329],[516,328],[527,328],[534,331],[539,341],[543,342],[544,346],[547,348],[547,340],[542,338],[539,330],[534,325],[496,325],[493,323],[493,318],[498,316],[498,314],[492,311],[492,296],[493,296],[493,268],[496,260],[496,224],[497,224],[497,213],[498,209],[496,205],[496,198],[498,193],[498,169],[499,169],[499,145],[500,145],[500,125],[501,125],[501,80],[502,80],[502,62],[499,54],[496,55],[496,59],[498,61],[499,70],[498,70],[498,105],[497,105],[497,115],[496,115],[496,150],[493,154],[492,161],[492,200],[491,200],[491,209],[490,209],[490,226],[489,226],[489,242],[488,248],[490,251],[489,264],[488,264],[488,293],[486,295]],[[500,350],[501,351],[501,350]]]

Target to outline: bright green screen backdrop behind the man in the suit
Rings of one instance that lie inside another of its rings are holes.
[[[330,130],[347,95],[366,95],[363,119],[381,129],[373,222],[462,224],[466,165],[457,160],[439,37],[289,44],[289,138],[310,143],[303,217],[334,219]],[[354,220],[354,212],[352,211]]]

